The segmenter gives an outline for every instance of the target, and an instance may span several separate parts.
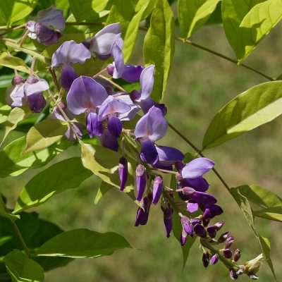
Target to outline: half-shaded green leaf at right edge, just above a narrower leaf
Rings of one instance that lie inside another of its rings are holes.
[[[243,185],[239,186],[240,194],[245,196],[248,201],[257,204],[259,207],[281,207],[282,199],[274,192],[267,190],[257,185]]]

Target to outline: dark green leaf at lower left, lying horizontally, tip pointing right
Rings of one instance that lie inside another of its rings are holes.
[[[64,232],[44,243],[38,256],[51,257],[102,257],[112,255],[116,250],[130,247],[123,236],[116,233],[98,233],[88,229]]]

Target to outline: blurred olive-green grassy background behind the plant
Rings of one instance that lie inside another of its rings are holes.
[[[282,73],[281,32],[282,23],[259,44],[245,60],[245,64],[271,77],[278,77]],[[179,30],[176,33],[180,36]],[[143,63],[140,54],[144,36],[145,33],[140,31],[130,63]],[[202,27],[190,39],[235,59],[220,25]],[[166,118],[201,148],[205,130],[219,109],[236,95],[263,82],[266,82],[266,79],[257,73],[188,44],[176,42],[176,54],[164,98],[168,107]],[[235,140],[208,149],[204,155],[216,162],[216,169],[230,187],[244,184],[261,185],[282,197],[281,123],[282,119],[278,117]],[[4,134],[3,124],[0,133],[1,136]],[[11,133],[4,145],[21,135],[22,133]],[[168,130],[168,134],[159,144],[177,147],[184,153],[193,152],[189,145],[171,130]],[[80,156],[79,147],[69,148],[49,166],[72,156]],[[14,207],[25,183],[43,169],[1,179],[1,191],[8,199],[8,207]],[[235,242],[231,249],[240,249],[242,264],[257,257],[261,252],[259,245],[239,207],[212,172],[207,173],[206,178],[211,185],[209,192],[219,199],[219,204],[225,211],[212,222],[226,221],[221,231],[232,232]],[[30,211],[38,212],[40,218],[56,223],[65,231],[89,228],[102,233],[119,233],[136,250],[118,250],[114,255],[97,259],[75,259],[63,268],[49,271],[45,281],[231,281],[228,269],[221,263],[204,269],[197,241],[183,269],[180,245],[173,235],[169,239],[166,238],[159,206],[151,208],[146,226],[134,227],[136,204],[118,190],[110,190],[95,205],[94,198],[99,183],[99,178],[92,176],[82,183],[80,188],[56,195],[46,204]],[[281,223],[263,219],[256,219],[255,223],[259,232],[270,240],[277,281],[282,281]],[[259,271],[259,278],[260,281],[274,281],[266,262]],[[250,278],[240,276],[239,281],[250,281]]]

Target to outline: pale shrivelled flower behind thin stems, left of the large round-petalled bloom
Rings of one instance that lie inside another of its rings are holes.
[[[61,108],[63,109],[63,111],[65,112],[66,116],[68,116],[68,118],[70,120],[72,120],[75,116],[73,115],[73,113],[71,113],[71,111],[66,107],[65,104],[60,103]],[[58,106],[54,106],[53,108],[53,112],[52,114],[50,114],[48,116],[48,118],[58,118],[61,119],[61,121],[66,121],[66,118],[64,118],[63,114],[61,113],[61,111],[59,110]],[[72,123],[73,127],[75,128],[75,132],[82,137],[82,124],[81,123]],[[73,133],[73,128],[68,127],[68,130],[66,130],[66,133],[64,135],[68,140],[70,140],[71,142],[73,142],[74,140],[76,140],[76,136],[75,133]]]

